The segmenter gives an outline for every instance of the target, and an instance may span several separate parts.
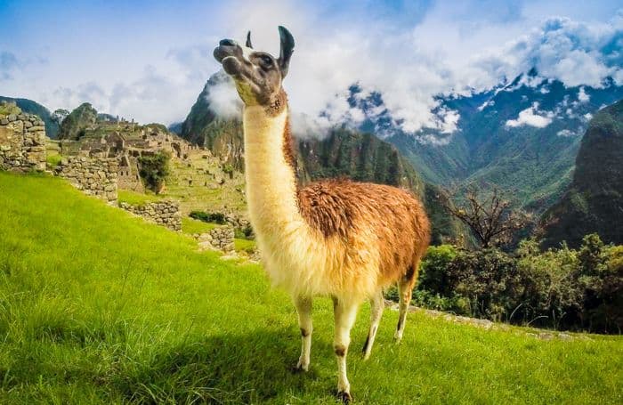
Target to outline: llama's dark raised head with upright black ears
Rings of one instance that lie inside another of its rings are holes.
[[[287,75],[290,57],[295,50],[295,39],[281,26],[279,36],[279,58],[255,51],[251,45],[250,32],[247,34],[246,46],[232,39],[223,39],[214,49],[214,58],[223,64],[225,72],[234,79],[240,98],[247,106],[260,105],[273,110],[284,107],[285,95],[281,82]]]

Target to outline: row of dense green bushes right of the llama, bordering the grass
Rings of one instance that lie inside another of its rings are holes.
[[[395,288],[385,296],[397,300]],[[430,247],[413,304],[460,315],[551,328],[621,333],[623,247],[587,235],[578,250],[541,252],[523,240],[514,254],[495,248]]]

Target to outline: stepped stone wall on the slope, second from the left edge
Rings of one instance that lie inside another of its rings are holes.
[[[63,158],[54,170],[85,194],[114,204],[117,201],[118,165],[116,158],[71,156]]]

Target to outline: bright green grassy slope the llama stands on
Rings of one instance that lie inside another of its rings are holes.
[[[312,370],[294,375],[295,312],[259,266],[197,253],[186,236],[0,173],[0,402],[334,403],[332,314],[314,309]],[[623,341],[540,341],[387,311],[368,362],[352,333],[359,403],[620,403]]]

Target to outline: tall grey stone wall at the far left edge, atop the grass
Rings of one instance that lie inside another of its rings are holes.
[[[4,104],[5,106],[6,104]],[[35,115],[0,115],[0,169],[45,170],[45,127]]]

